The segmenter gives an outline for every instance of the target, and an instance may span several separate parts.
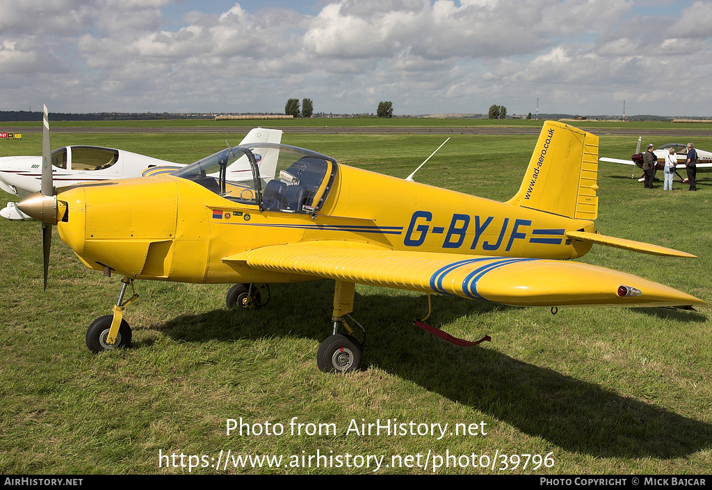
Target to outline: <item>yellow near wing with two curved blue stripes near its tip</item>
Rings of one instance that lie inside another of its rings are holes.
[[[562,260],[411,252],[345,242],[261,247],[225,257],[232,267],[336,279],[519,307],[689,307],[705,302],[604,267]],[[624,295],[620,295],[624,287]]]

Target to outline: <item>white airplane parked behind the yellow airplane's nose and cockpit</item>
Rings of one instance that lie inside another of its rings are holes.
[[[281,143],[279,129],[252,129],[240,144]],[[258,160],[260,178],[274,178],[279,152],[272,151]],[[244,161],[243,161],[244,160]],[[40,190],[42,175],[41,156],[4,156],[0,158],[0,189],[20,199]],[[75,145],[52,151],[52,173],[57,187],[73,186],[80,182],[96,182],[112,179],[167,174],[184,165],[159,160],[131,151],[115,148]],[[227,173],[232,181],[251,181],[252,171],[247,159],[231,164]],[[0,210],[0,216],[9,220],[31,219],[17,208],[17,203],[8,203]]]

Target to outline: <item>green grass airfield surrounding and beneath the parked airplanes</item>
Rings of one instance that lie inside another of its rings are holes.
[[[239,137],[56,134],[52,147],[101,144],[189,163]],[[344,164],[399,177],[443,140],[409,134],[283,137]],[[636,141],[602,136],[600,155],[627,158]],[[694,141],[712,148],[712,137]],[[416,180],[506,200],[518,189],[535,142],[533,136],[454,135]],[[0,142],[1,156],[39,153],[39,134]],[[679,182],[664,193],[661,184],[649,191],[630,176],[629,167],[600,165],[601,233],[699,257],[595,246],[582,260],[711,302],[712,180],[702,174],[697,193]],[[2,193],[0,207],[10,200]],[[333,282],[273,284],[269,304],[253,311],[224,307],[229,285],[138,282],[140,299],[125,311],[133,347],[95,356],[85,348],[85,331],[95,317],[110,313],[121,278],[85,269],[56,230],[46,292],[41,262],[40,225],[0,220],[1,474],[182,474],[189,464],[201,474],[712,469],[708,308],[560,309],[553,315],[433,297],[430,324],[466,339],[492,336],[491,343],[461,348],[412,325],[427,311],[426,296],[357,285],[353,316],[367,330],[365,368],[335,376],[315,363],[320,341],[330,334]],[[294,417],[304,424],[300,435],[290,431]],[[273,431],[281,424],[284,432],[227,435],[227,420],[240,418],[251,430],[264,431],[269,422]],[[448,430],[441,438],[348,431],[352,421],[360,427],[394,419],[416,428],[448,424]],[[457,424],[471,432],[456,434]],[[320,467],[316,459],[304,467],[317,452],[326,456]],[[263,467],[234,467],[233,459],[247,454],[281,456],[281,467],[264,461]],[[324,468],[328,458],[332,464]],[[426,458],[429,466],[423,467]],[[438,461],[442,467],[434,469]]]

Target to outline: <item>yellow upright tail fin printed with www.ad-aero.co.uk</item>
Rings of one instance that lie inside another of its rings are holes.
[[[547,121],[518,193],[508,203],[567,218],[598,215],[598,137]]]

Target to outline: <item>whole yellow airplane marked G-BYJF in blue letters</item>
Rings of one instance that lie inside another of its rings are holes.
[[[46,112],[45,112],[46,114]],[[334,279],[333,334],[323,371],[353,371],[360,342],[345,317],[356,283],[453,294],[519,307],[678,307],[706,304],[624,272],[567,259],[598,243],[654,255],[694,257],[600,235],[598,137],[546,122],[516,195],[506,203],[337,164],[283,144],[229,147],[173,174],[52,188],[45,115],[42,191],[23,212],[43,223],[44,279],[56,225],[90,269],[122,275],[112,315],[89,326],[88,348],[130,345],[123,309],[136,279],[236,283],[229,307],[256,307],[259,284]],[[278,177],[263,185],[257,161],[278,149]],[[246,156],[251,183],[226,179]]]

